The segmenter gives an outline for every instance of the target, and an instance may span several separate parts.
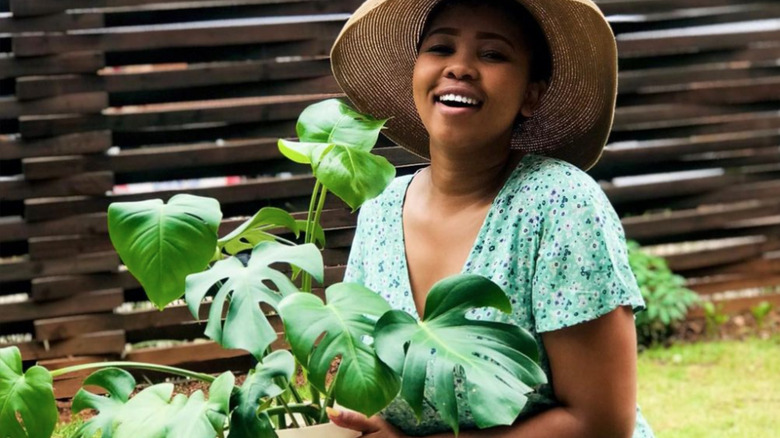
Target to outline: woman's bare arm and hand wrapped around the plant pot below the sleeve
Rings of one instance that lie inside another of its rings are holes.
[[[622,438],[636,420],[636,331],[629,307],[542,334],[561,406],[507,427],[463,431],[460,438]],[[402,438],[378,417],[344,412],[334,423],[370,438]],[[439,434],[435,438],[452,438]]]

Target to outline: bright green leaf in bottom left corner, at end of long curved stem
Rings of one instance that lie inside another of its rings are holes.
[[[0,438],[48,438],[56,424],[51,374],[39,366],[22,373],[19,349],[0,348]]]

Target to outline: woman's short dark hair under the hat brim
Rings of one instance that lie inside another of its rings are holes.
[[[423,37],[430,30],[430,24],[442,11],[454,6],[481,7],[490,6],[496,8],[502,14],[509,17],[510,20],[517,23],[523,34],[523,40],[530,51],[532,82],[545,80],[549,82],[552,75],[552,60],[550,59],[550,49],[547,45],[542,29],[539,27],[536,19],[526,8],[515,0],[443,0],[434,6],[423,26],[423,31],[417,39],[417,49],[419,50]]]

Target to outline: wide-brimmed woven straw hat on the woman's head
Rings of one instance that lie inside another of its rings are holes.
[[[418,38],[440,0],[368,0],[350,17],[331,51],[341,88],[362,112],[390,118],[385,135],[430,158],[428,133],[412,96]],[[516,0],[547,37],[552,76],[534,115],[515,127],[512,147],[566,160],[581,169],[601,156],[617,97],[617,47],[590,0]]]

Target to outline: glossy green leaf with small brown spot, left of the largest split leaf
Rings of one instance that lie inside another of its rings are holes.
[[[325,291],[327,305],[311,294],[290,295],[279,306],[287,340],[321,392],[333,359],[341,357],[332,389],[343,406],[373,415],[398,394],[398,376],[370,343],[377,319],[390,310],[378,294],[354,283]],[[324,335],[324,336],[323,336]],[[316,347],[315,347],[316,345]]]

